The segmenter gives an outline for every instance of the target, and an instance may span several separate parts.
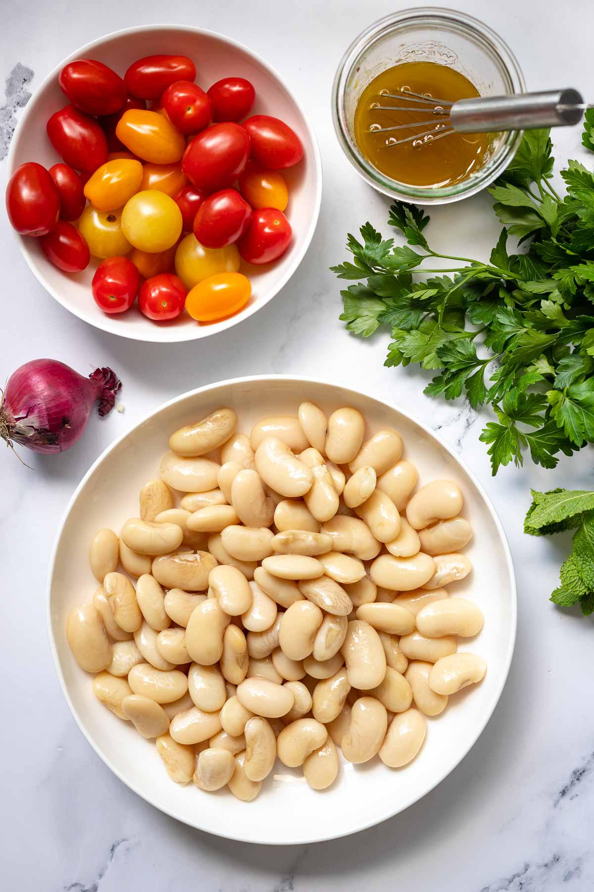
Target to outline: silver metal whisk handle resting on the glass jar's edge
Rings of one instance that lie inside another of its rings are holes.
[[[545,90],[460,99],[452,105],[450,120],[459,133],[533,130],[577,124],[582,120],[583,109],[582,95],[577,90]]]

